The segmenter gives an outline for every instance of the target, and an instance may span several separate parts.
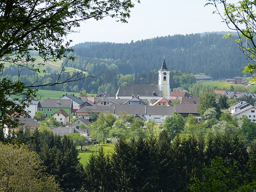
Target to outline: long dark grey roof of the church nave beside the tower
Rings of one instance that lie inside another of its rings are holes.
[[[162,97],[163,93],[160,91],[159,85],[131,85],[131,86],[120,86],[116,92],[116,96],[155,96]]]

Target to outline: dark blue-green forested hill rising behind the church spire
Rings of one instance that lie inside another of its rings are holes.
[[[69,66],[96,73],[105,69],[117,74],[133,74],[159,69],[165,62],[169,70],[212,76],[214,79],[242,76],[246,57],[234,38],[221,34],[190,34],[156,37],[131,43],[85,42],[73,46],[74,62]]]

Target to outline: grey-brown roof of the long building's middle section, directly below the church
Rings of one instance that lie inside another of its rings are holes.
[[[119,114],[121,111],[125,111],[128,114],[146,114],[147,105],[116,105],[114,114]]]

